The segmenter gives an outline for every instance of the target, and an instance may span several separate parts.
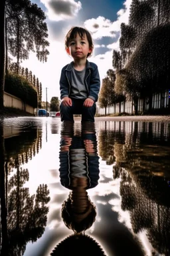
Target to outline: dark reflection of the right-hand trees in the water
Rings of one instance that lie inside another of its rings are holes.
[[[169,133],[162,129],[168,131],[165,123],[138,123],[125,143],[117,139],[113,175],[121,178],[122,209],[129,211],[133,232],[145,231],[153,248],[169,256],[170,149]]]

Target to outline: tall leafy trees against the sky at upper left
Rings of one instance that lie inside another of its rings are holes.
[[[0,110],[3,109],[5,72],[8,72],[8,54],[20,63],[29,59],[30,51],[37,53],[39,61],[46,61],[48,52],[48,30],[44,12],[30,0],[3,0],[0,3]]]

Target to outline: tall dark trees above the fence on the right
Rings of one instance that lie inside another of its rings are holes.
[[[112,102],[116,103],[115,93],[124,95],[126,99],[133,100],[136,113],[139,97],[147,97],[151,109],[153,93],[168,89],[169,13],[169,0],[132,0],[129,24],[121,24],[120,51],[113,51],[112,65],[116,79],[112,83]],[[107,73],[104,86],[108,77]],[[104,107],[103,97],[105,95],[101,90],[100,107]],[[105,101],[108,107],[110,99],[106,98]]]

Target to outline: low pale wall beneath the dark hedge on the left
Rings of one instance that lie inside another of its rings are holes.
[[[21,109],[31,114],[35,113],[35,109],[33,107],[24,104],[23,101],[21,101],[21,99],[6,92],[4,92],[3,95],[3,105],[4,107],[15,107],[15,109]]]

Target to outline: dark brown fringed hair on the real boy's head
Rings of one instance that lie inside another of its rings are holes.
[[[80,35],[80,37],[84,37],[84,35],[86,35],[87,39],[88,39],[88,44],[89,47],[92,49],[94,49],[94,44],[92,41],[92,36],[90,35],[90,32],[87,29],[84,29],[83,27],[72,27],[68,33],[66,34],[66,39],[65,39],[65,48],[68,48],[69,42],[76,38],[76,35]],[[88,53],[87,57],[91,57],[92,52]]]

